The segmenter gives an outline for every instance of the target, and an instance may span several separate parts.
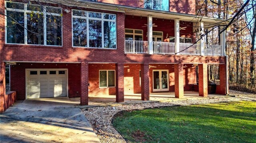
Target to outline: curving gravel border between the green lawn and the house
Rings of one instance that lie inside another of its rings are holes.
[[[194,104],[212,104],[232,101],[256,101],[256,94],[237,92],[230,90],[233,97],[200,98],[190,100],[174,100],[170,102],[148,102],[136,104],[122,104],[117,106],[100,106],[81,109],[89,121],[92,129],[102,143],[126,143],[125,139],[112,126],[114,116],[132,110],[143,110],[148,108],[160,108],[166,106],[188,106]]]

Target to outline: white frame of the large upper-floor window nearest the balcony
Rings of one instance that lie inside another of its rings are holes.
[[[73,16],[73,11],[83,11],[83,12],[86,12],[86,17],[84,16]],[[101,14],[101,18],[90,18],[89,17],[89,12],[92,12],[92,11],[86,11],[86,10],[75,10],[75,9],[72,9],[72,47],[79,47],[79,48],[95,48],[95,49],[116,49],[117,47],[117,23],[116,23],[116,20],[108,20],[108,19],[104,19],[103,18],[103,14],[109,14],[109,13],[104,13],[104,12],[93,12],[93,13],[99,13]],[[111,15],[115,15],[116,14],[111,14]],[[73,18],[81,18],[81,19],[86,19],[86,39],[87,39],[87,45],[86,47],[81,47],[81,46],[74,46],[74,41],[73,41]],[[117,19],[117,16],[116,16],[116,19]],[[102,29],[102,47],[90,47],[89,46],[89,20],[101,20],[101,29]],[[115,22],[116,23],[116,47],[115,48],[104,48],[104,21],[106,22]]]

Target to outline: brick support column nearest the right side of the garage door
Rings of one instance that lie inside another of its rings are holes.
[[[81,63],[81,97],[80,97],[80,104],[81,105],[88,105],[88,63],[82,62]]]

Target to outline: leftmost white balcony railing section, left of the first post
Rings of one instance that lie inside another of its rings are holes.
[[[148,53],[148,41],[125,40],[125,53]]]

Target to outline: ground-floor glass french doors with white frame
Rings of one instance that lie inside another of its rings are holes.
[[[153,70],[153,92],[169,91],[168,70]]]

